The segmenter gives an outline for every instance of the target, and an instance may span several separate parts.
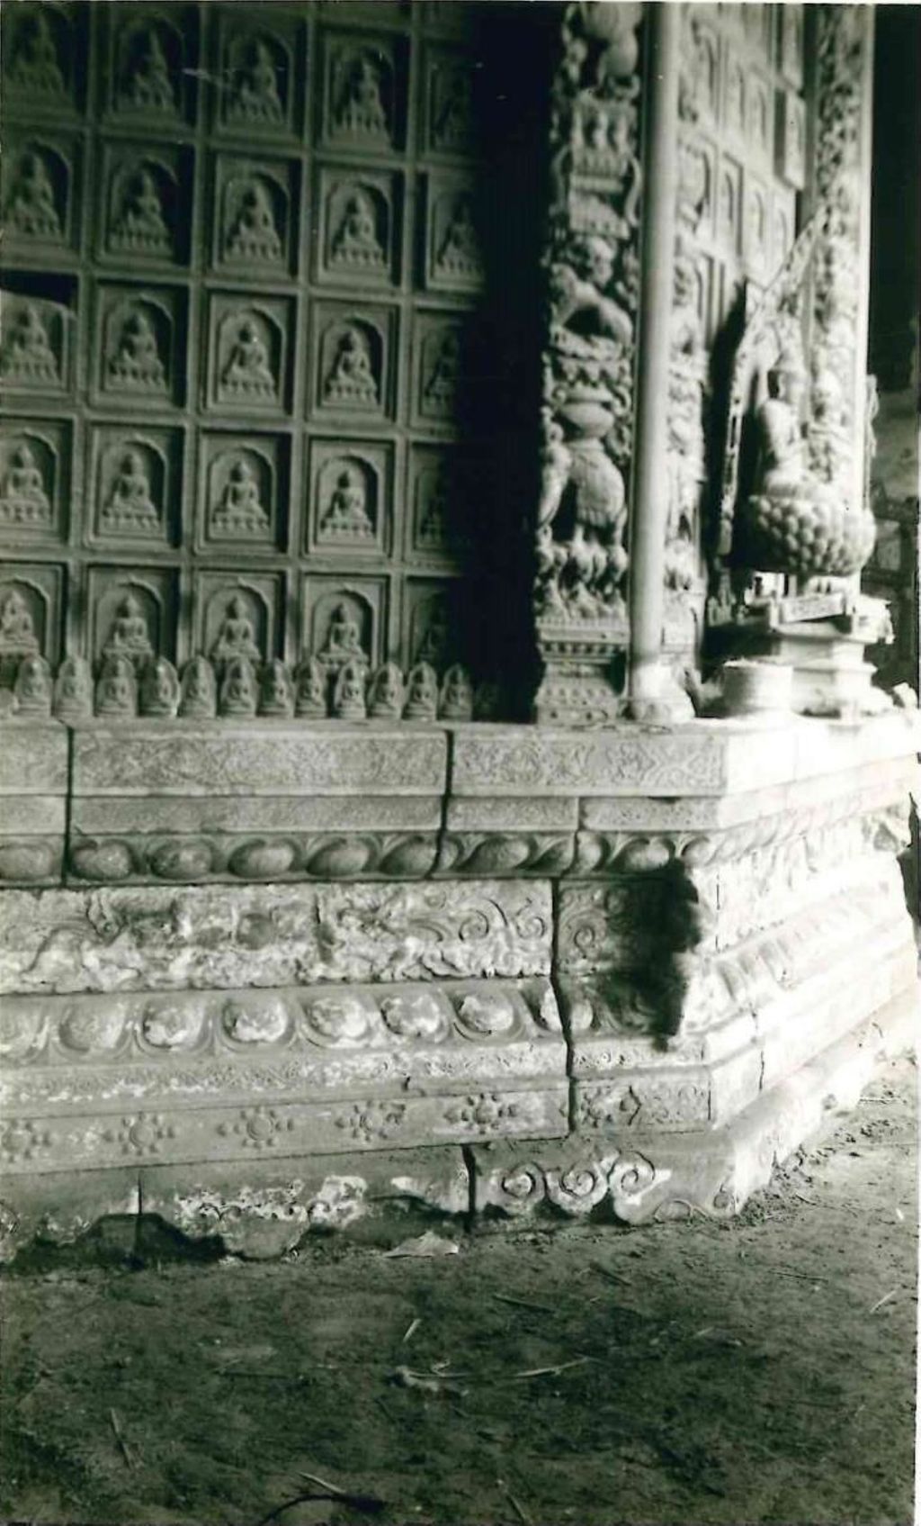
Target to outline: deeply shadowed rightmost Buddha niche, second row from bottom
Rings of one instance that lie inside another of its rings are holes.
[[[413,557],[444,560],[470,549],[477,497],[476,464],[442,446],[412,446],[409,546]]]

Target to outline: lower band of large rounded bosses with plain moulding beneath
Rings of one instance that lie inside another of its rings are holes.
[[[12,1112],[563,1082],[547,980],[8,996]]]

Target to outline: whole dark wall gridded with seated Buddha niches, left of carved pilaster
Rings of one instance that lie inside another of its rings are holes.
[[[6,9],[0,656],[456,655],[476,12]]]

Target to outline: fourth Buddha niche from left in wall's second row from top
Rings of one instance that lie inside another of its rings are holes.
[[[319,179],[314,250],[319,281],[349,287],[400,281],[401,177],[325,165]]]

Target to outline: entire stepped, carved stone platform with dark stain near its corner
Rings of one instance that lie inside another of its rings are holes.
[[[912,1041],[919,742],[6,722],[3,1254],[733,1213]]]

